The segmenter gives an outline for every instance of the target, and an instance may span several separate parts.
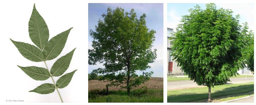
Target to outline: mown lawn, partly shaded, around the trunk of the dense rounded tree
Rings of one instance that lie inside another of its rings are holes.
[[[217,85],[212,88],[212,99],[254,91],[254,82]],[[167,102],[202,102],[208,99],[208,87],[168,91]],[[232,100],[232,99],[231,99]]]

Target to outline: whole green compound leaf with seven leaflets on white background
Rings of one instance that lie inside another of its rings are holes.
[[[28,43],[17,42],[12,39],[10,40],[17,47],[17,49],[19,50],[20,54],[23,57],[33,62],[43,61],[45,63],[46,68],[36,67],[36,66],[30,66],[30,67],[18,66],[18,67],[21,70],[23,70],[29,77],[35,80],[46,80],[49,77],[51,77],[53,80],[53,76],[61,76],[69,67],[75,49],[73,49],[71,52],[69,52],[65,56],[59,58],[53,64],[51,72],[49,71],[45,61],[52,60],[60,54],[60,52],[65,46],[67,36],[71,29],[72,28],[58,34],[57,36],[50,39],[50,41],[48,41],[48,38],[49,38],[48,27],[45,21],[43,20],[43,17],[36,10],[35,4],[34,4],[31,18],[28,23],[28,32],[29,32],[29,37],[37,47]],[[61,76],[57,80],[56,85],[53,80],[54,84],[44,83],[29,92],[35,92],[39,94],[50,94],[50,93],[53,93],[56,89],[59,94],[58,88],[61,89],[66,87],[70,83],[75,72],[76,70]],[[62,98],[61,98],[61,102],[63,102]]]

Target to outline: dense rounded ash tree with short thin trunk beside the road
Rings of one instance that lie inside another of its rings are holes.
[[[239,15],[233,16],[230,9],[216,9],[213,3],[206,4],[206,9],[196,5],[189,12],[171,37],[171,56],[191,80],[209,87],[211,101],[211,87],[227,83],[244,68],[245,58],[250,58],[244,56],[244,49],[253,48],[247,41],[253,33],[247,31],[247,23],[239,25]]]

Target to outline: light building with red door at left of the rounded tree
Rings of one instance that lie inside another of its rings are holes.
[[[172,52],[171,47],[172,47],[172,43],[170,40],[171,32],[173,31],[173,29],[171,28],[167,28],[167,58],[168,58],[168,62],[167,62],[167,66],[168,66],[168,74],[170,73],[171,75],[177,75],[177,74],[184,74],[181,71],[181,68],[179,66],[177,66],[177,62],[173,61],[173,57],[170,56],[170,52]]]

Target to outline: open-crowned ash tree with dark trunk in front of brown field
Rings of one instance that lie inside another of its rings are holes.
[[[90,30],[94,40],[93,49],[88,50],[88,64],[103,63],[104,68],[93,72],[103,74],[100,80],[111,81],[109,86],[125,88],[130,95],[132,87],[149,80],[153,74],[151,71],[143,76],[135,72],[150,68],[148,64],[156,59],[156,49],[151,49],[156,31],[149,30],[146,15],[138,19],[134,9],[124,12],[120,7],[108,8],[102,17],[95,26],[96,31]]]

